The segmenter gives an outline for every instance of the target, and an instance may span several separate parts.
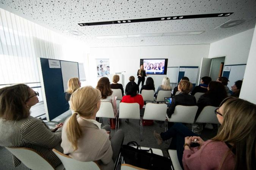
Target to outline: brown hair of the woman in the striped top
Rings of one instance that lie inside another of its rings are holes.
[[[26,101],[30,87],[17,84],[0,89],[0,117],[8,121],[18,121],[30,115]]]

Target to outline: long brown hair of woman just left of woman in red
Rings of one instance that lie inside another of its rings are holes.
[[[108,77],[102,77],[99,79],[96,89],[101,91],[101,97],[102,99],[106,99],[107,96],[111,96],[113,91],[110,89],[110,82]]]

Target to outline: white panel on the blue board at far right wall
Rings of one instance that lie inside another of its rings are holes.
[[[243,76],[245,74],[245,67],[246,65],[232,65],[229,73],[229,83],[228,88],[231,90],[231,86],[234,85],[234,83],[237,80],[242,80]]]

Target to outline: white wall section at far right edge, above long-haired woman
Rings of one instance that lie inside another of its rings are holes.
[[[251,49],[248,56],[247,65],[245,68],[245,75],[243,79],[243,85],[241,88],[239,98],[248,100],[256,104],[256,29],[254,30],[253,40],[251,42]],[[252,77],[253,76],[253,77]]]

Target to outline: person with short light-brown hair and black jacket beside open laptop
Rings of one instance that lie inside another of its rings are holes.
[[[187,80],[181,80],[178,84],[178,90],[181,92],[175,96],[173,96],[171,100],[171,105],[167,108],[167,115],[170,118],[173,114],[175,107],[177,105],[184,106],[195,106],[196,98],[195,96],[191,96],[188,94],[193,88],[192,83]]]

